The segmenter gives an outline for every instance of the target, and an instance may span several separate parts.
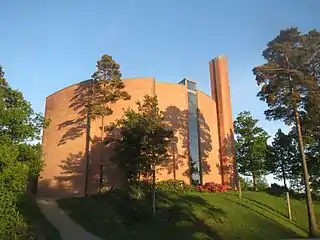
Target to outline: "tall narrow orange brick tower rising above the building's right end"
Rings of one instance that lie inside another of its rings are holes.
[[[211,96],[216,102],[219,131],[219,171],[222,183],[236,185],[236,167],[234,161],[233,120],[228,79],[228,62],[225,56],[218,56],[209,63]]]

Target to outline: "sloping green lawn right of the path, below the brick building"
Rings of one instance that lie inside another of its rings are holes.
[[[76,222],[103,239],[282,239],[307,236],[305,203],[292,200],[294,221],[285,200],[266,193],[158,193],[157,215],[150,200],[121,194],[62,199],[59,205]],[[320,217],[320,206],[315,204]]]

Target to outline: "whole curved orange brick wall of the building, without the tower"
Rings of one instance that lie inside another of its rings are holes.
[[[155,83],[153,78],[124,79],[129,101],[119,101],[112,106],[113,114],[104,118],[107,125],[120,118],[123,109],[136,108],[135,102],[146,94],[158,96],[159,107],[165,121],[174,131],[175,139],[169,148],[170,159],[159,167],[157,180],[181,179],[190,183],[188,150],[188,98],[185,85]],[[40,196],[65,197],[84,195],[85,139],[87,118],[83,96],[89,82],[81,82],[64,88],[46,99],[45,116],[51,120],[43,132],[43,151],[46,166],[39,177]],[[220,142],[216,102],[207,94],[197,91],[199,107],[200,155],[203,182],[221,182]],[[111,149],[100,143],[101,119],[91,122],[89,192],[97,190],[101,151],[104,151],[104,174],[107,183],[120,185],[123,176],[109,160]]]

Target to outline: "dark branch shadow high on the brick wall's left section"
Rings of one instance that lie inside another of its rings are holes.
[[[69,108],[77,115],[76,118],[68,119],[58,125],[58,130],[66,129],[65,133],[58,142],[58,146],[81,137],[87,128],[87,109],[85,99],[88,96],[90,80],[80,82],[74,90],[73,97],[70,99]]]

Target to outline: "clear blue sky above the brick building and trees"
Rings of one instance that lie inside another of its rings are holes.
[[[123,77],[197,81],[209,93],[208,62],[229,59],[234,117],[251,111],[269,134],[252,68],[280,29],[319,30],[318,0],[0,0],[0,64],[36,111],[45,97],[88,79],[112,55]]]

